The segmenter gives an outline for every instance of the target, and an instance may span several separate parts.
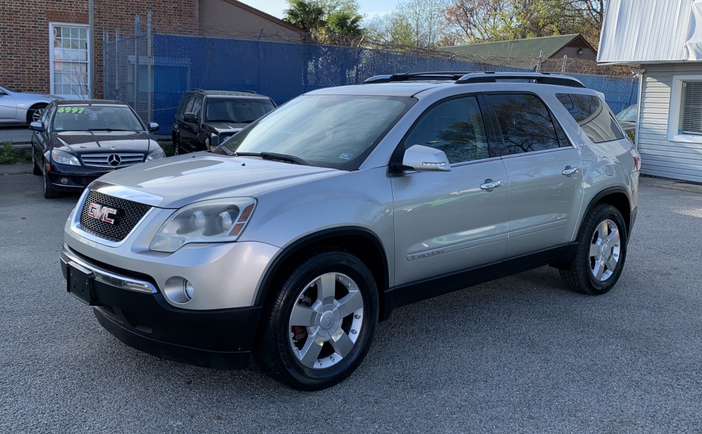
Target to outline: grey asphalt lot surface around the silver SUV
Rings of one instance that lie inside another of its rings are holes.
[[[0,167],[0,433],[702,430],[700,186],[642,179],[608,294],[564,290],[544,267],[405,306],[350,379],[303,393],[103,330],[58,263],[78,195],[48,201],[18,167]]]

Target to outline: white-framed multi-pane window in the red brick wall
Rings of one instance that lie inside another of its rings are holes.
[[[49,25],[51,56],[51,93],[66,98],[87,98],[88,26],[51,23]]]

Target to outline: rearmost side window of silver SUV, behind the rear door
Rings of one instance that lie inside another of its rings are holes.
[[[593,143],[621,140],[624,134],[600,98],[577,93],[557,93],[556,97]]]

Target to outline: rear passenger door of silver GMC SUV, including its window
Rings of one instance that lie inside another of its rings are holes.
[[[570,241],[583,203],[578,150],[531,93],[484,95],[509,179],[506,257]]]

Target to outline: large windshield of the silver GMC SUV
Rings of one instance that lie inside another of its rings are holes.
[[[280,154],[310,165],[355,170],[415,101],[411,97],[303,95],[232,136],[223,151]]]

